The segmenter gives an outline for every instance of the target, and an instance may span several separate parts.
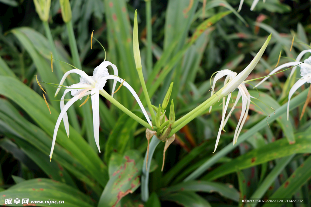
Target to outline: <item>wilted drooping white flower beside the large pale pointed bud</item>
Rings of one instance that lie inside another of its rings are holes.
[[[231,70],[221,70],[221,71],[219,71],[216,74],[214,82],[213,82],[211,96],[214,94],[213,91],[215,89],[215,84],[216,84],[216,81],[218,79],[222,78],[223,76],[226,76],[225,82],[224,82],[224,86],[226,84],[230,85],[231,82],[236,77],[236,75],[237,75],[237,73],[233,72]],[[237,96],[237,98],[235,100],[234,106],[237,105],[240,97],[242,97],[242,111],[241,111],[239,123],[238,123],[237,128],[235,129],[235,132],[234,132],[233,145],[237,142],[239,134],[240,134],[240,132],[242,130],[242,127],[243,127],[243,125],[244,125],[244,123],[246,121],[248,110],[249,110],[249,105],[250,105],[250,98],[251,98],[251,96],[249,95],[249,93],[248,93],[244,83],[241,83],[237,88],[239,88],[239,92],[238,92],[238,96]],[[226,103],[225,103],[225,97],[223,97],[223,99],[222,99],[222,101],[223,101],[223,104],[222,104],[222,106],[223,106],[222,107],[222,118],[221,118],[220,127],[219,127],[218,134],[217,134],[217,139],[216,139],[216,144],[215,144],[214,152],[216,151],[217,146],[218,146],[221,130],[223,130],[225,124],[227,123],[227,121],[229,119],[229,116],[231,115],[231,112],[234,110],[234,106],[233,106],[232,109],[230,110],[229,114],[227,115],[226,119],[225,119],[225,114],[226,114],[226,111],[227,111],[227,108],[228,108],[228,105],[229,105],[229,102],[230,102],[230,98],[231,98],[231,93],[228,94]],[[211,108],[212,107],[210,107],[210,112],[211,112]]]

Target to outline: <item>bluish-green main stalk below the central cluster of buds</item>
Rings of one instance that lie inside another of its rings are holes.
[[[142,166],[142,201],[146,202],[149,198],[149,171],[150,171],[150,165],[153,153],[156,150],[156,146],[160,143],[160,139],[158,139],[156,136],[153,136],[149,145],[149,155],[148,155],[148,169],[146,169],[146,160],[147,160],[147,152],[145,155],[144,163]]]

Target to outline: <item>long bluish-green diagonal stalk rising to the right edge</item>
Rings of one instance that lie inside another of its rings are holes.
[[[304,90],[299,95],[297,95],[295,98],[290,100],[290,110],[294,109],[295,107],[299,106],[300,104],[304,103],[307,93],[309,89]],[[207,160],[204,164],[202,164],[198,169],[196,169],[193,173],[191,173],[187,178],[185,178],[183,181],[186,182],[188,180],[194,180],[198,177],[200,177],[207,169],[209,169],[213,164],[215,164],[220,158],[227,155],[229,152],[231,152],[235,147],[239,146],[240,143],[247,140],[249,137],[251,137],[253,134],[258,132],[258,130],[261,130],[265,126],[267,126],[267,121],[269,123],[272,123],[275,119],[277,119],[279,116],[286,113],[287,110],[287,103],[283,104],[280,108],[278,108],[275,111],[275,114],[270,115],[269,119],[262,119],[258,124],[253,126],[252,128],[248,129],[246,133],[243,133],[239,136],[238,141],[233,145],[232,142],[225,146],[223,149],[221,149],[219,152],[216,153],[216,155],[212,156],[211,159]]]

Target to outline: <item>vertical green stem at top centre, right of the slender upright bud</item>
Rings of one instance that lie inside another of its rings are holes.
[[[152,71],[152,22],[151,22],[151,0],[146,1],[146,27],[147,27],[147,72]]]

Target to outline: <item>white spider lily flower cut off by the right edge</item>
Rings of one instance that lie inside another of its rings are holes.
[[[292,88],[290,88],[290,92],[288,94],[288,102],[287,102],[287,120],[289,117],[291,97],[293,96],[295,91],[297,91],[297,89],[300,88],[300,86],[302,86],[304,83],[311,83],[311,56],[309,58],[305,59],[304,62],[300,62],[300,59],[302,58],[302,56],[304,54],[306,54],[307,52],[311,52],[311,50],[304,50],[304,51],[300,52],[299,55],[297,56],[295,62],[289,62],[289,63],[285,63],[283,65],[280,65],[276,69],[272,70],[269,73],[269,75],[271,75],[271,74],[274,74],[277,71],[281,70],[282,68],[291,67],[291,66],[295,66],[295,65],[299,64],[300,75],[302,77],[292,86]],[[294,74],[296,68],[297,68],[297,66],[293,67],[292,71],[290,72],[289,78],[291,78],[291,76]],[[264,79],[262,79],[262,81],[260,81],[255,87],[259,86],[262,82],[264,82],[268,78],[269,77],[265,77]]]

